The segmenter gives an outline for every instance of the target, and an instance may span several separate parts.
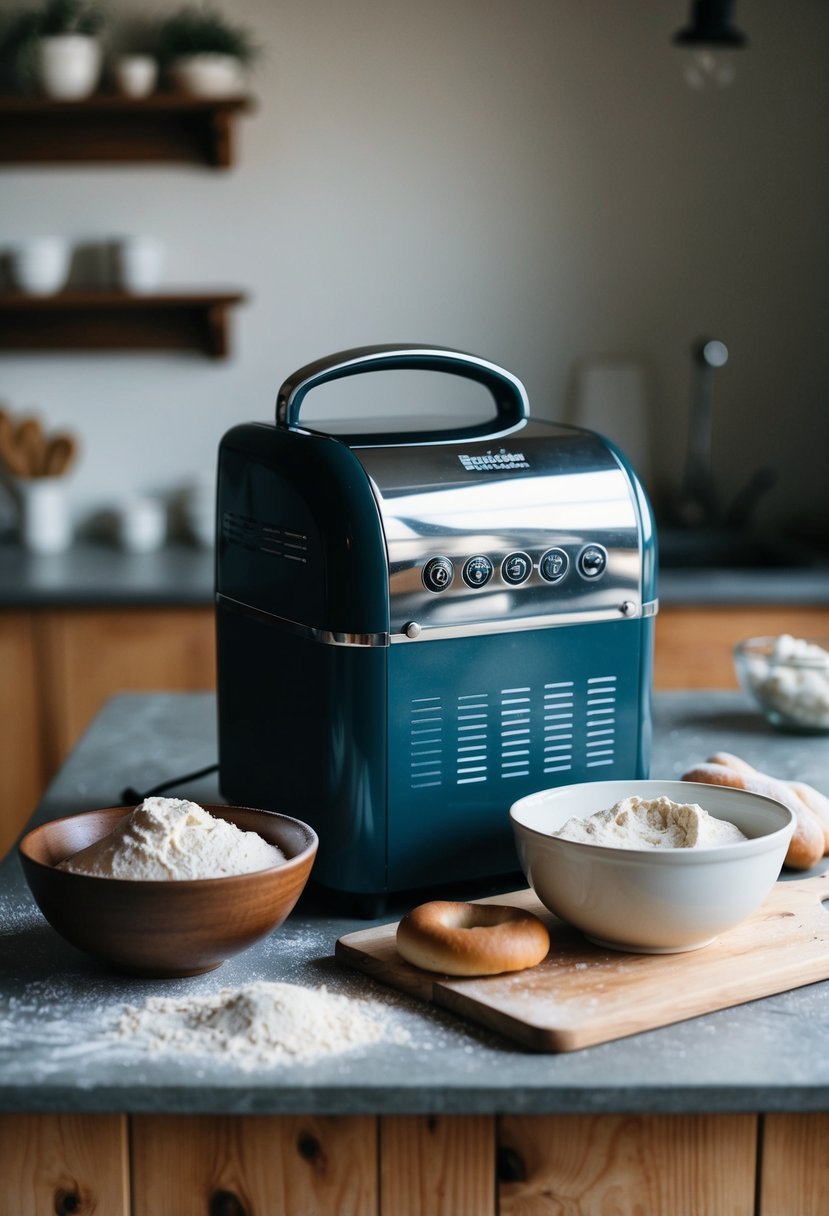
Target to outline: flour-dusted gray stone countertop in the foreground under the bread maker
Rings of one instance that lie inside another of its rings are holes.
[[[215,760],[209,694],[109,702],[33,822],[117,804]],[[712,750],[829,788],[829,739],[776,734],[739,693],[655,699],[652,773],[676,777]],[[214,778],[185,794],[216,801]],[[803,877],[803,876],[797,876]],[[514,884],[513,884],[514,885]],[[447,893],[449,894],[449,893]],[[474,894],[489,894],[485,890]],[[389,908],[387,921],[404,908]],[[379,922],[378,922],[379,923]],[[566,1054],[537,1055],[342,970],[338,936],[367,922],[306,891],[286,924],[219,970],[187,980],[109,973],[63,942],[36,910],[16,852],[0,866],[0,1110],[418,1114],[829,1110],[829,983]],[[215,992],[255,979],[385,1002],[406,1043],[243,1071],[216,1057],[151,1055],[105,1030],[124,1004]]]

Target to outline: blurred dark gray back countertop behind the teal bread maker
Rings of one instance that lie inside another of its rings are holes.
[[[175,607],[213,603],[214,556],[187,544],[123,553],[79,542],[38,557],[0,544],[0,608]],[[662,604],[829,604],[829,565],[662,569]]]

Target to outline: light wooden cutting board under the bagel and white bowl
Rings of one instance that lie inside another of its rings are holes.
[[[627,955],[593,946],[530,890],[481,902],[537,913],[551,930],[543,963],[512,975],[449,979],[405,962],[397,924],[340,938],[338,962],[500,1031],[537,1052],[571,1052],[829,978],[829,872],[776,883],[748,921],[701,950]]]

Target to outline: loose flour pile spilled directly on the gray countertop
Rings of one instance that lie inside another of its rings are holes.
[[[246,1069],[410,1041],[379,1001],[265,980],[203,997],[151,997],[124,1010],[117,1035],[152,1052],[220,1054]]]

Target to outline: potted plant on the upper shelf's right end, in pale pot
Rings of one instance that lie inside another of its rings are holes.
[[[175,88],[201,97],[241,92],[256,55],[250,34],[209,7],[181,9],[162,22],[158,47]]]

